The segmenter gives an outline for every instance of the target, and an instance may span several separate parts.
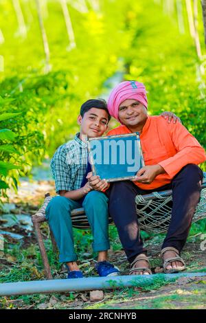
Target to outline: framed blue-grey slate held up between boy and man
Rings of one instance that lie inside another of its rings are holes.
[[[88,150],[93,175],[108,182],[132,179],[144,166],[139,133],[89,138]]]

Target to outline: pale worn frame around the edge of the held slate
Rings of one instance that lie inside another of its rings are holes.
[[[140,167],[144,167],[144,157],[142,154],[142,150],[141,150],[141,142],[140,142],[140,138],[139,138],[139,133],[128,133],[125,135],[111,135],[111,136],[104,136],[104,137],[94,137],[94,138],[89,138],[88,139],[88,153],[89,153],[89,159],[90,159],[90,163],[91,163],[91,169],[93,172],[93,175],[99,175],[98,174],[98,168],[100,168],[100,165],[96,165],[94,160],[93,160],[93,153],[92,153],[92,141],[93,140],[100,140],[100,142],[104,141],[104,140],[113,140],[113,139],[122,139],[122,140],[127,140],[128,137],[133,137],[134,140],[137,140],[137,147],[138,147],[138,152],[139,152],[139,163],[140,163]],[[137,170],[138,171],[138,170]],[[136,172],[135,172],[136,173]],[[104,177],[105,178],[105,177]],[[105,178],[106,181],[108,182],[113,182],[113,181],[126,181],[128,179],[133,179],[135,178],[135,175],[133,176],[128,176],[128,175],[123,175],[123,176],[119,176],[119,177],[109,177],[109,178]],[[101,178],[103,179],[103,178]]]

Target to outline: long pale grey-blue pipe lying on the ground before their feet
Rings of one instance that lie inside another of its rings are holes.
[[[67,291],[93,291],[95,289],[115,289],[122,287],[141,287],[154,278],[171,280],[180,277],[200,277],[206,273],[155,274],[144,276],[89,277],[56,280],[34,280],[30,282],[5,282],[0,284],[0,296],[34,293],[58,293]]]

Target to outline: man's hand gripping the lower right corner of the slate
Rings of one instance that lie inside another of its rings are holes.
[[[165,170],[159,164],[142,167],[131,181],[138,181],[139,183],[150,184],[154,181],[155,177],[163,174]]]

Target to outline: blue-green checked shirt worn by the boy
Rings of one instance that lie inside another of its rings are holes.
[[[56,192],[60,190],[78,190],[87,170],[87,143],[76,134],[73,140],[62,144],[51,161]]]

